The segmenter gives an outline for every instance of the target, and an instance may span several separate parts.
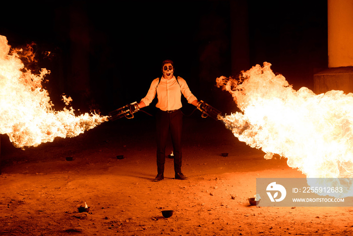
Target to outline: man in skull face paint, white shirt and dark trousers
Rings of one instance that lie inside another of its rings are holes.
[[[175,179],[185,180],[182,173],[182,125],[183,113],[182,94],[188,103],[198,106],[198,100],[191,93],[188,84],[181,77],[175,77],[174,66],[171,60],[162,63],[163,76],[152,81],[145,98],[137,104],[137,108],[148,106],[157,95],[159,108],[156,114],[157,129],[157,176],[153,181],[164,179],[165,147],[168,134],[171,134],[174,155]]]

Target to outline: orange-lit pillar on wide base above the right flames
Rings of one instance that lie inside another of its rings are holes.
[[[353,92],[353,0],[327,1],[328,69],[314,75],[314,92]]]

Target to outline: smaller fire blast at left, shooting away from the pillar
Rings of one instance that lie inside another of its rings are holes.
[[[55,137],[74,137],[108,120],[95,112],[76,116],[72,107],[55,111],[41,85],[50,72],[41,69],[38,75],[33,74],[19,57],[23,52],[12,50],[7,38],[0,35],[0,133],[6,133],[15,147],[36,147]],[[34,58],[30,51],[26,56]],[[63,100],[68,105],[71,98],[63,96]]]

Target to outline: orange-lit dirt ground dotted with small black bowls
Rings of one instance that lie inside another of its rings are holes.
[[[305,176],[285,159],[265,160],[200,113],[184,119],[188,180],[173,179],[173,159],[166,158],[164,180],[152,181],[154,119],[143,113],[25,151],[1,135],[1,152],[0,235],[353,233],[351,208],[250,206],[257,177]],[[85,202],[89,212],[79,213]],[[162,210],[174,214],[164,218]]]

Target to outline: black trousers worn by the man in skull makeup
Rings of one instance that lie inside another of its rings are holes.
[[[183,113],[181,109],[171,113],[161,110],[156,114],[157,130],[157,171],[158,174],[164,173],[165,147],[168,135],[171,135],[174,155],[174,171],[181,172],[182,168],[182,129]]]

